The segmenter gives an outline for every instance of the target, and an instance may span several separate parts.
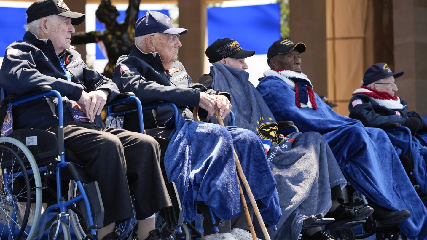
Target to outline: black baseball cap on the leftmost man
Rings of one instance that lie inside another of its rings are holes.
[[[71,24],[73,25],[79,25],[85,20],[84,14],[71,12],[63,0],[37,0],[25,12],[27,14],[27,23],[54,14],[71,18]]]

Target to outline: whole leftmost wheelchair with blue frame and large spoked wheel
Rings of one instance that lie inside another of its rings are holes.
[[[5,92],[1,91],[3,98]],[[62,99],[58,91],[42,86],[28,94],[2,99],[2,108],[47,96]],[[109,105],[126,101],[139,102],[129,94],[120,94]],[[58,109],[62,109],[62,101],[58,101]],[[89,181],[77,156],[64,146],[61,110],[57,117],[58,134],[18,129],[0,138],[1,239],[41,239],[50,229],[48,239],[68,240],[70,223],[79,239],[94,239],[96,229],[103,227],[104,208],[97,182]],[[51,212],[57,213],[48,219]],[[119,231],[122,239],[131,232],[132,223],[129,220],[119,226],[123,228]]]

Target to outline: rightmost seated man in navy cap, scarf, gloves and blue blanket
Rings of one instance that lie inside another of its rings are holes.
[[[409,175],[413,171],[425,196],[427,143],[417,133],[427,130],[427,123],[417,112],[408,111],[407,102],[395,95],[398,91],[395,79],[403,74],[393,73],[385,62],[370,66],[363,76],[362,86],[353,92],[348,105],[349,117],[360,120],[367,127],[386,130],[405,170]]]

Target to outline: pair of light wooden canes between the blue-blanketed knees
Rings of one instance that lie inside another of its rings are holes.
[[[196,121],[200,121],[198,112],[199,112],[199,107],[196,107],[193,109],[193,116],[194,116],[194,120],[196,120]],[[216,119],[218,121],[218,124],[221,126],[224,126],[224,122],[222,121],[221,116],[219,116],[219,111],[217,109],[215,109],[215,115],[216,115]],[[258,222],[260,222],[260,226],[261,226],[261,229],[263,231],[265,240],[270,240],[270,235],[267,232],[267,228],[264,224],[263,218],[261,217],[260,211],[258,209],[257,202],[255,201],[255,198],[254,198],[254,195],[252,194],[251,188],[249,187],[249,182],[246,179],[245,174],[243,173],[242,165],[240,165],[239,158],[237,157],[237,154],[236,154],[236,151],[234,150],[234,148],[233,148],[233,152],[234,152],[234,162],[236,163],[236,169],[237,169],[237,181],[239,182],[240,199],[242,200],[243,210],[245,211],[246,220],[248,221],[248,225],[249,225],[249,229],[250,229],[251,234],[252,234],[252,238],[254,240],[257,240],[257,234],[255,234],[255,229],[254,229],[254,226],[252,224],[252,219],[251,219],[251,215],[249,214],[249,209],[248,209],[248,205],[246,204],[245,196],[243,195],[243,188],[242,188],[242,185],[240,183],[239,176],[243,181],[243,186],[245,186],[246,193],[248,193],[249,200],[252,203],[252,207],[254,208],[255,216],[257,216]]]

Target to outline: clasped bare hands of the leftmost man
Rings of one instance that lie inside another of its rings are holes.
[[[95,115],[101,114],[102,108],[104,108],[104,105],[107,102],[107,97],[108,91],[103,89],[91,91],[89,93],[83,91],[82,96],[77,103],[86,114],[86,117],[88,117],[91,122],[94,122]]]

